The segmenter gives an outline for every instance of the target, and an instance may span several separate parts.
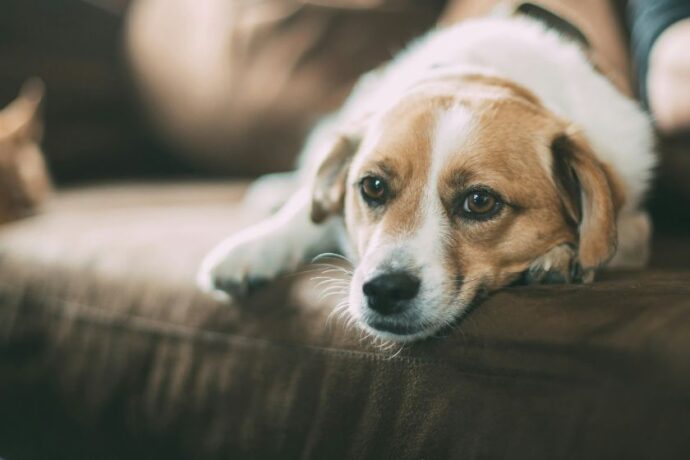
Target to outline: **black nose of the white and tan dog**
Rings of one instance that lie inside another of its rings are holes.
[[[370,279],[364,283],[362,291],[372,310],[390,315],[402,311],[406,301],[417,296],[420,284],[416,276],[407,272],[394,272]]]

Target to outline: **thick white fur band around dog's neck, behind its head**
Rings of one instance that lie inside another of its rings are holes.
[[[627,207],[639,206],[656,162],[649,117],[593,69],[577,44],[529,19],[477,19],[429,33],[365,76],[342,116],[378,112],[432,77],[468,72],[518,83],[582,128],[600,159],[621,175]]]

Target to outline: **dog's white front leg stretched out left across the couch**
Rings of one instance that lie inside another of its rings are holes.
[[[314,224],[311,199],[311,188],[301,188],[275,215],[216,246],[201,264],[198,286],[216,297],[241,297],[310,256],[333,250],[339,221]]]

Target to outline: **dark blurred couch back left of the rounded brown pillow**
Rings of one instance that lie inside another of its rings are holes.
[[[98,3],[98,2],[94,2]],[[122,47],[127,1],[4,0],[0,13],[0,105],[22,82],[47,87],[44,146],[58,183],[179,175],[136,107]]]

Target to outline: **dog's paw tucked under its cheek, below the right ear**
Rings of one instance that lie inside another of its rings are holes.
[[[577,254],[570,245],[562,244],[537,258],[525,273],[527,284],[563,284],[582,280]]]

